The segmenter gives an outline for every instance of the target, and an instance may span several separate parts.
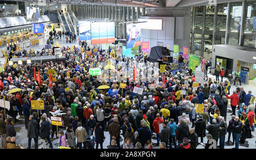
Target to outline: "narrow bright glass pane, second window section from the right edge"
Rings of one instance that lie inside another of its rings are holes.
[[[229,44],[239,43],[242,20],[242,2],[232,2],[229,21]]]

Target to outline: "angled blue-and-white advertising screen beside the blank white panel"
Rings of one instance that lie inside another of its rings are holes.
[[[127,24],[126,34],[127,49],[141,45],[141,28],[137,27],[137,24]]]

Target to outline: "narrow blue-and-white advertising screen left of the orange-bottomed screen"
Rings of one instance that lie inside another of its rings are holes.
[[[79,21],[79,41],[90,40],[90,21]]]

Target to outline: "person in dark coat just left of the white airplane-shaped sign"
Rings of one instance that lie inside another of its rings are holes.
[[[41,127],[40,127],[40,137],[42,139],[47,139],[47,141],[49,142],[49,148],[53,148],[52,146],[52,141],[50,139],[50,128],[49,128],[49,122],[46,121],[45,117],[41,117],[41,120],[43,121],[41,123]]]

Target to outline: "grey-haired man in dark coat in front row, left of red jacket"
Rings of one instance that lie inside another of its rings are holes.
[[[142,144],[142,147],[144,148],[144,145],[146,144],[147,140],[151,140],[151,131],[147,127],[147,123],[144,120],[141,120],[141,128],[138,129],[139,133],[139,140]]]

